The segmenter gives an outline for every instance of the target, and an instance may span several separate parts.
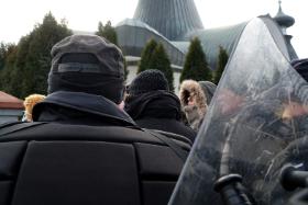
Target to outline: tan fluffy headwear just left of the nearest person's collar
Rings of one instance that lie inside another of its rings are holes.
[[[23,105],[24,105],[24,114],[22,117],[23,122],[32,122],[32,110],[33,106],[40,102],[42,102],[46,96],[42,95],[42,94],[31,94],[29,96],[26,96],[23,101]]]

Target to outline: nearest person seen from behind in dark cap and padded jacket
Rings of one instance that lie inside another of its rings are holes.
[[[121,50],[73,35],[52,58],[34,122],[0,126],[0,204],[167,204],[190,141],[143,130],[120,109]]]

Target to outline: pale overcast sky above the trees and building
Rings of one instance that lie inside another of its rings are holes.
[[[99,21],[117,24],[132,18],[138,0],[1,0],[0,42],[18,43],[35,23],[51,11],[57,20],[66,19],[69,29],[96,31]],[[153,0],[155,1],[155,0]],[[272,16],[278,11],[278,0],[195,0],[206,29],[232,25],[261,14]],[[283,0],[283,10],[295,18],[288,30],[299,57],[308,57],[308,0]]]

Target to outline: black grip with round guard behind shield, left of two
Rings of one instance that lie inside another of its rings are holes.
[[[220,193],[226,205],[253,205],[248,196],[245,187],[242,185],[240,174],[228,174],[221,176],[215,183],[215,191]]]

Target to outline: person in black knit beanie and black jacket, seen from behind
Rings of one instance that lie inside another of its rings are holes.
[[[128,89],[124,110],[143,128],[158,129],[195,140],[196,132],[180,122],[179,99],[169,92],[160,70],[138,75]]]

